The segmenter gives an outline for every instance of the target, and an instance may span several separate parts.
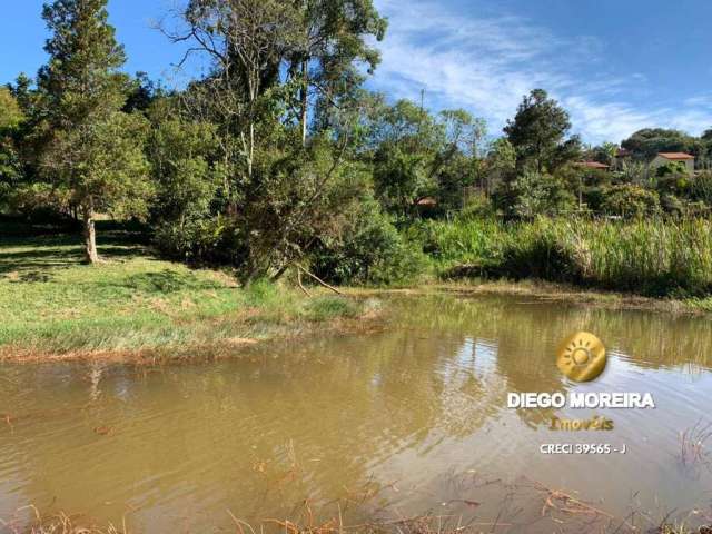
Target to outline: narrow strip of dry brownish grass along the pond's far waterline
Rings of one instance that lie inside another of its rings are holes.
[[[406,296],[417,298],[426,295],[452,295],[459,298],[479,296],[525,297],[536,301],[555,301],[580,307],[610,310],[640,310],[671,316],[705,316],[708,309],[695,307],[684,300],[656,299],[621,293],[582,289],[574,286],[540,280],[517,283],[494,280],[472,284],[432,283],[421,287],[367,288],[340,287],[343,297],[329,297],[316,289],[314,296],[304,298],[303,305],[319,299],[340,299],[345,308],[326,317],[271,317],[274,310],[253,308],[237,310],[219,317],[194,318],[192,325],[201,330],[187,343],[155,345],[141,348],[83,348],[56,349],[41,344],[0,346],[0,364],[41,364],[58,362],[101,362],[111,364],[160,365],[195,360],[218,360],[240,357],[256,347],[289,339],[309,338],[319,335],[369,334],[389,328],[387,306],[379,297]],[[229,330],[229,335],[227,332]],[[126,332],[125,335],[134,333]],[[61,342],[61,338],[59,339]]]

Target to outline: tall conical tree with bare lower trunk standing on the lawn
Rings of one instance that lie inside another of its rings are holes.
[[[107,22],[107,0],[55,0],[42,18],[51,32],[39,73],[43,146],[40,170],[81,212],[85,255],[98,261],[97,210],[142,216],[151,195],[142,155],[146,120],[121,112],[128,77],[123,49]]]

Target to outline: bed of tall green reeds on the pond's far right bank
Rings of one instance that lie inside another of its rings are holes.
[[[425,227],[439,277],[538,278],[652,297],[712,294],[708,220],[459,220]]]

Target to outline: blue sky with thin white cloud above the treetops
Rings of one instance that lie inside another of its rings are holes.
[[[383,63],[368,82],[433,109],[462,107],[497,135],[525,92],[547,89],[586,141],[620,141],[652,126],[712,127],[709,0],[375,0],[390,19]],[[0,80],[44,60],[41,0],[7,2]],[[178,0],[110,0],[129,56],[169,86],[181,50],[151,23]],[[195,72],[195,69],[194,69]]]

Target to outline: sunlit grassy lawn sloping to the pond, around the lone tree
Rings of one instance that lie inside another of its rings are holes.
[[[0,357],[186,353],[365,313],[326,294],[306,298],[267,283],[243,289],[230,273],[164,261],[126,233],[101,235],[98,267],[82,265],[77,236],[0,237]]]

